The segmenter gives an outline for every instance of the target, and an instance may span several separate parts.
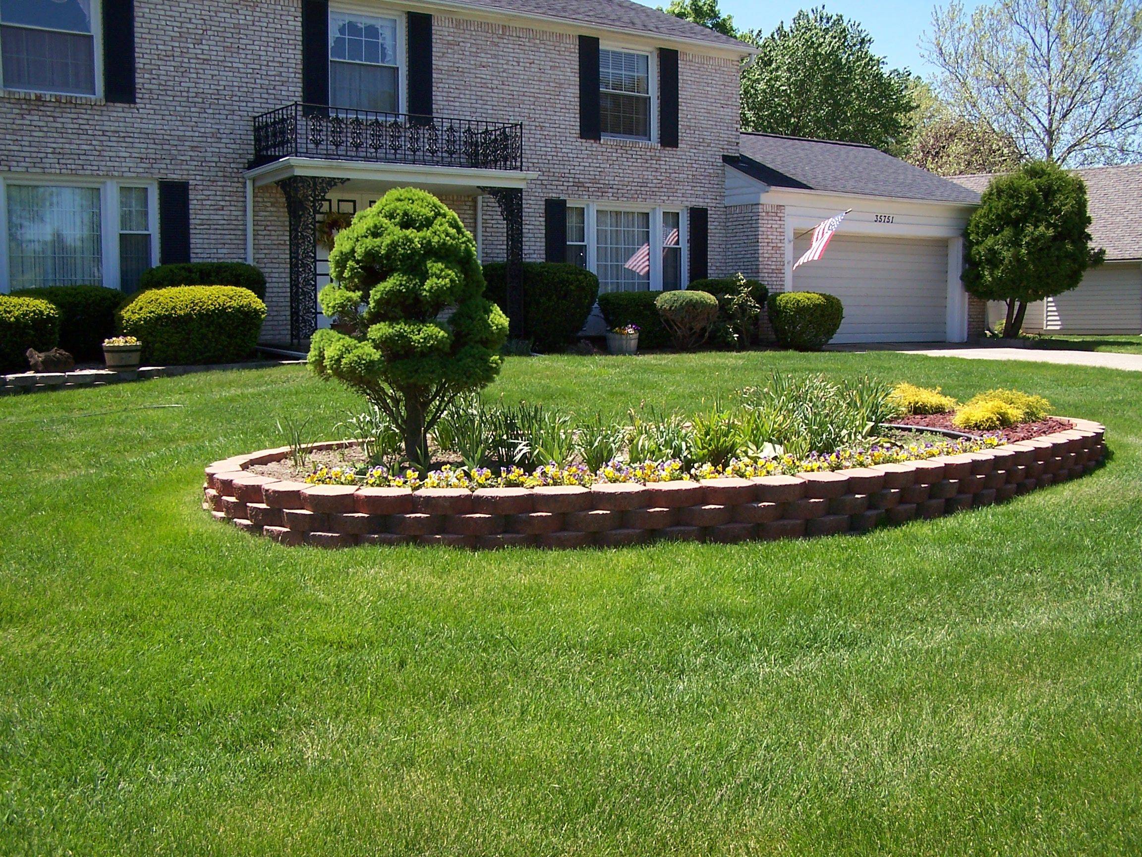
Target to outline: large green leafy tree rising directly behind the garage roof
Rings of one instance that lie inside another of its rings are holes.
[[[769,35],[741,37],[759,54],[741,75],[741,127],[885,151],[909,130],[911,74],[888,70],[860,24],[822,8]]]

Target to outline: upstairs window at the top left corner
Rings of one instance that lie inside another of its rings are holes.
[[[6,89],[95,95],[95,0],[0,0]]]

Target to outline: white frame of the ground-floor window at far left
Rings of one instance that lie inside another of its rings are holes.
[[[99,253],[103,257],[103,285],[122,288],[119,269],[119,189],[147,190],[147,225],[151,230],[151,264],[159,264],[159,183],[150,178],[87,178],[29,173],[0,174],[0,293],[11,291],[8,259],[8,187],[97,187],[99,189]]]

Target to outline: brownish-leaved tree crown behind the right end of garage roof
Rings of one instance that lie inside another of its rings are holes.
[[[962,117],[938,119],[918,129],[906,160],[940,176],[1007,173],[1021,160],[1019,147],[987,122]]]

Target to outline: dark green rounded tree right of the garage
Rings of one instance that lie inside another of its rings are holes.
[[[964,233],[964,287],[1007,304],[1004,336],[1019,336],[1027,305],[1073,289],[1104,250],[1091,249],[1086,185],[1048,161],[998,176]]]

